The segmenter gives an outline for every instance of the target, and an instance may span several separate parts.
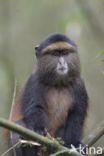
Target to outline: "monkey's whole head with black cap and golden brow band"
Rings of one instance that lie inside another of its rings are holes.
[[[70,82],[80,75],[77,45],[63,34],[53,34],[35,47],[39,79],[46,83]]]

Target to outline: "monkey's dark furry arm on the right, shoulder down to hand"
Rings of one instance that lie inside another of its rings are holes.
[[[81,134],[88,107],[88,95],[82,80],[78,80],[74,84],[73,96],[75,100],[74,108],[72,112],[69,112],[64,141],[66,146],[73,144],[75,147],[78,147],[81,143]]]

